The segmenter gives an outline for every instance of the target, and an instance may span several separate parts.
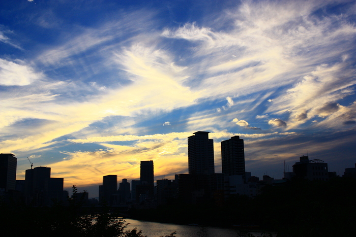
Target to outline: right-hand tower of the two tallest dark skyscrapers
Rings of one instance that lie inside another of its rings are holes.
[[[244,140],[234,136],[221,142],[222,173],[227,176],[242,175],[245,177]],[[244,178],[245,179],[245,178]]]

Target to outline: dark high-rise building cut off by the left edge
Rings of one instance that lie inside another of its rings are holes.
[[[0,154],[0,189],[15,190],[17,158],[14,154]]]

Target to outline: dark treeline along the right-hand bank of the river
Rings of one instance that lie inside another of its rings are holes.
[[[231,196],[223,206],[214,202],[183,205],[176,201],[155,210],[131,210],[131,218],[199,225],[255,226],[278,236],[355,236],[356,180],[293,179],[265,186],[255,198]]]

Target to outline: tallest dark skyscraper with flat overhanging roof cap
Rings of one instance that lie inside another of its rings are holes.
[[[188,137],[188,168],[190,175],[209,175],[215,173],[213,139],[209,131],[194,132]]]

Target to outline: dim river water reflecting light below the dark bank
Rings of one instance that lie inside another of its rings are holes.
[[[142,230],[143,235],[147,237],[159,237],[169,235],[170,233],[176,231],[175,236],[177,237],[195,237],[198,236],[197,232],[201,227],[199,226],[189,226],[189,225],[177,225],[177,224],[167,224],[167,223],[157,223],[150,221],[138,221],[133,219],[125,219],[126,222],[130,223],[127,229],[137,229]],[[218,228],[218,227],[206,227],[207,232],[210,237],[236,237],[238,236],[237,229],[228,228]],[[250,232],[255,236],[260,236],[261,232]]]

